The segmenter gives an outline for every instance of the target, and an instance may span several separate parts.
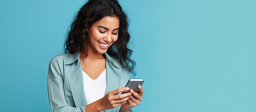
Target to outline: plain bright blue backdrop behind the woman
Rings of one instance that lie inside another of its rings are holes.
[[[47,70],[84,0],[0,0],[0,111],[49,112]],[[119,0],[135,112],[256,112],[255,0]]]

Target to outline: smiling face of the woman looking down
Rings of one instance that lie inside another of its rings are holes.
[[[104,54],[118,38],[119,19],[106,16],[92,24],[88,31],[88,50]]]

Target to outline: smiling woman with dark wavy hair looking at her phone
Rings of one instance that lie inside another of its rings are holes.
[[[89,0],[77,13],[65,53],[52,58],[48,94],[52,112],[130,112],[142,101],[125,87],[135,62],[126,14],[117,0]]]

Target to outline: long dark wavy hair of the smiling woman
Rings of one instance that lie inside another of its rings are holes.
[[[105,16],[117,16],[120,22],[118,39],[108,48],[107,53],[118,58],[124,68],[135,74],[134,67],[136,63],[130,59],[132,50],[127,47],[130,40],[127,16],[117,0],[89,0],[83,5],[70,25],[71,29],[64,45],[65,53],[81,52],[83,58],[86,58],[88,56],[86,45],[88,32],[86,29]]]

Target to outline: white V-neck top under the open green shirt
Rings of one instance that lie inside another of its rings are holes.
[[[83,72],[83,86],[88,105],[103,98],[107,87],[106,69],[95,80]]]

